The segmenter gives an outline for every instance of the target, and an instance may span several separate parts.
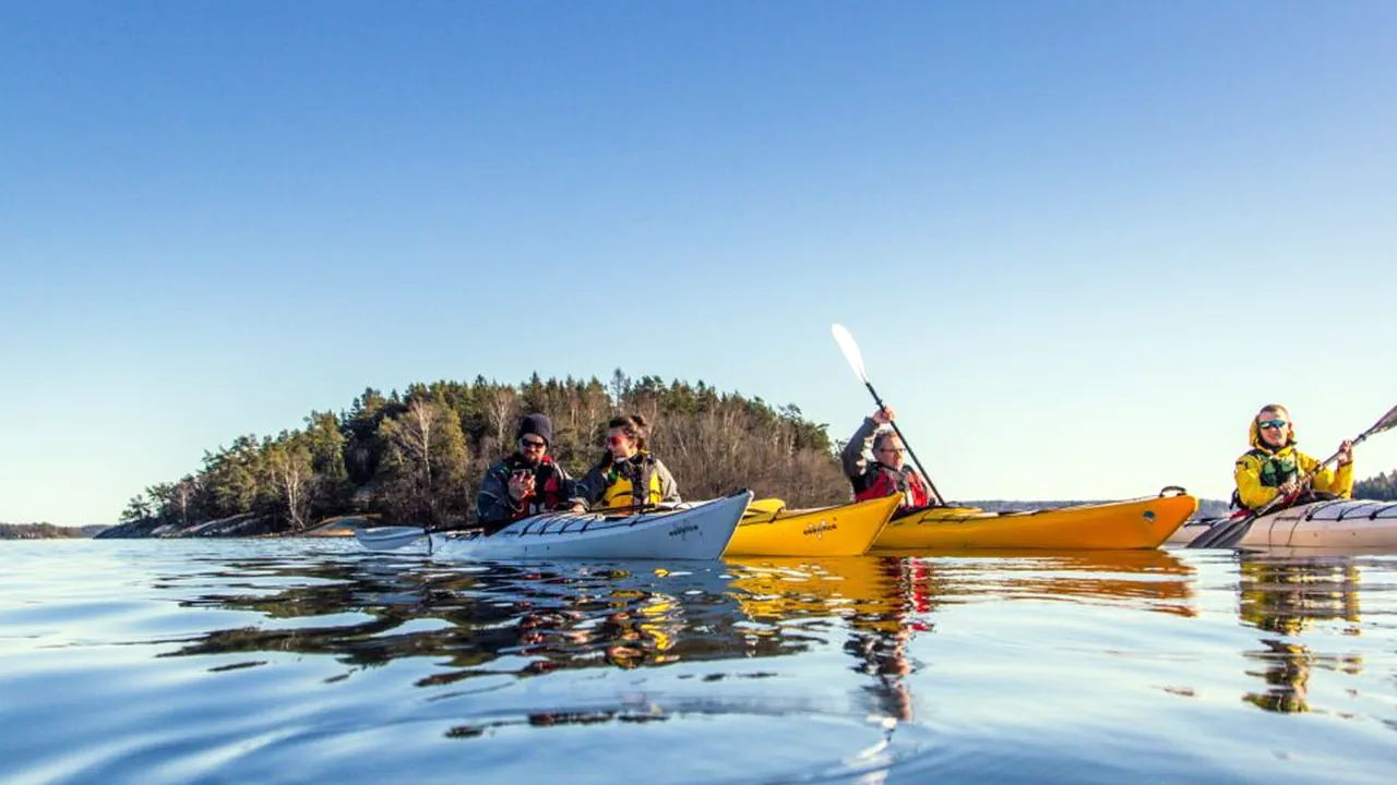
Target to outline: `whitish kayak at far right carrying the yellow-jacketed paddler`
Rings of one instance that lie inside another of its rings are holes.
[[[1189,521],[1165,545],[1187,545],[1228,520]],[[1397,501],[1333,499],[1299,504],[1253,521],[1235,548],[1397,548]]]

